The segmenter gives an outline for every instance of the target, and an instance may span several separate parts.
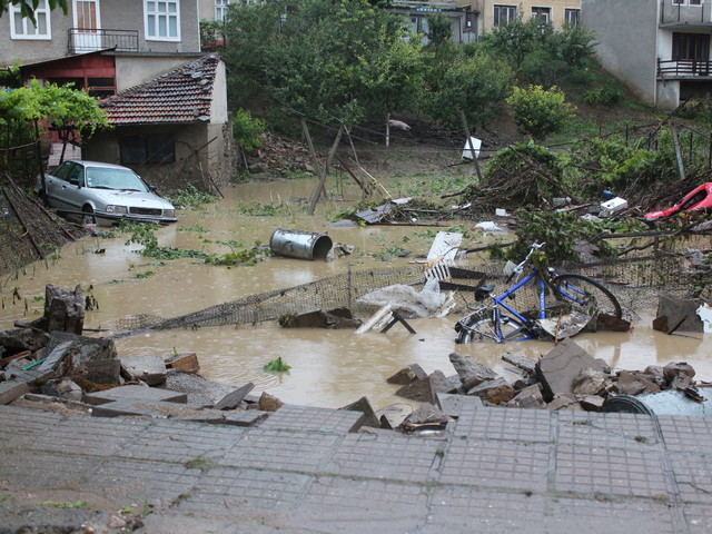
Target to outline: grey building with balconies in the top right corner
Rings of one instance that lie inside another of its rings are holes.
[[[712,91],[712,6],[703,0],[583,0],[601,65],[641,100],[671,110]]]

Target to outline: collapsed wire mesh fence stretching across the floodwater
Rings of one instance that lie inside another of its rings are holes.
[[[634,313],[636,299],[650,297],[651,289],[656,295],[661,289],[681,293],[700,284],[700,277],[709,286],[710,273],[690,269],[685,254],[653,253],[633,258],[586,264],[570,264],[566,271],[580,273],[599,279],[619,297],[621,304]],[[461,304],[474,303],[474,289],[494,281],[504,290],[504,264],[496,261],[463,261],[451,268],[451,276],[441,280],[442,290],[455,290]],[[281,316],[349,308],[355,315],[372,314],[376,307],[359,301],[370,291],[393,285],[422,288],[426,281],[423,265],[367,269],[330,276],[309,284],[260,293],[224,303],[199,312],[172,318],[137,315],[120,319],[116,328],[129,333],[139,329],[199,328],[225,325],[256,325],[277,320]],[[704,283],[704,281],[702,281]],[[535,287],[522,288],[516,294],[520,309],[534,307]]]

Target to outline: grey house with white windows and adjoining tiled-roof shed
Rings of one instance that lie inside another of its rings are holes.
[[[13,6],[0,18],[0,67],[19,62],[24,81],[86,89],[102,99],[113,127],[70,147],[48,130],[48,166],[79,157],[126,164],[166,189],[229,180],[225,65],[200,51],[198,0],[69,0],[67,14],[47,0],[38,6],[34,23]],[[126,101],[129,115],[121,113]],[[154,155],[155,139],[169,156]],[[128,156],[139,152],[131,142],[146,144],[145,158]]]

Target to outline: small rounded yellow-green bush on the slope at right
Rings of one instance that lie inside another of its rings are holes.
[[[523,134],[535,140],[561,131],[576,109],[566,102],[566,96],[556,86],[545,90],[542,86],[514,88],[506,102],[512,106],[514,121]]]

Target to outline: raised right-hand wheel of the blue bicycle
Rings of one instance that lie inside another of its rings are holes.
[[[599,314],[607,314],[619,319],[623,310],[613,294],[600,281],[585,275],[566,273],[552,278],[552,286],[556,288],[556,298],[571,303],[577,309],[590,317]]]

